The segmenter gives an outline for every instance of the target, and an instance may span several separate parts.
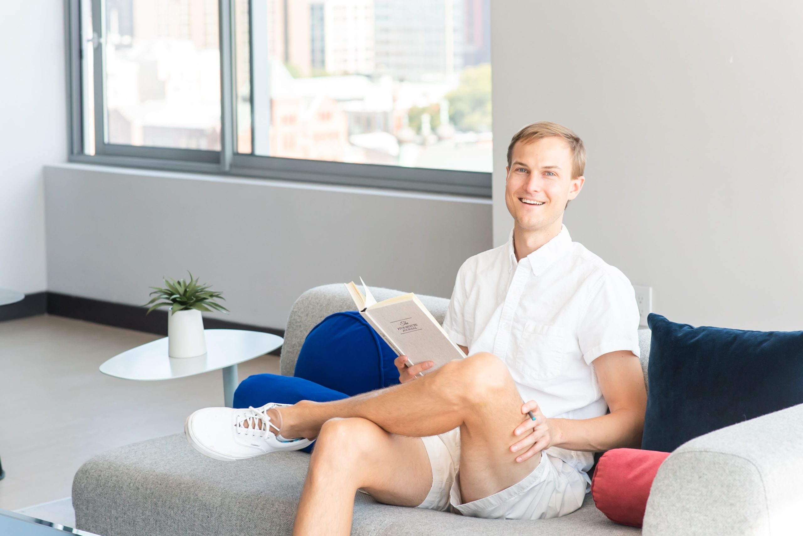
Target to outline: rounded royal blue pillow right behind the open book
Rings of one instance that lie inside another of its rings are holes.
[[[328,315],[304,339],[296,372],[349,396],[399,383],[396,352],[357,311]]]

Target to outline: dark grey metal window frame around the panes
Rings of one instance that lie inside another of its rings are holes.
[[[248,0],[252,10],[253,2]],[[446,193],[471,197],[491,197],[491,173],[449,169],[407,168],[384,164],[353,164],[327,160],[302,160],[281,156],[257,156],[236,152],[234,145],[234,0],[218,0],[218,31],[221,78],[221,148],[219,151],[185,148],[142,147],[105,142],[104,84],[104,0],[91,0],[92,26],[100,27],[100,42],[92,49],[95,108],[95,154],[84,154],[84,83],[81,58],[88,39],[81,34],[81,0],[65,2],[67,55],[67,128],[70,143],[67,160],[141,169],[214,173],[232,177],[251,177],[303,181],[328,185],[347,185],[381,189],[401,189],[426,193]],[[100,25],[98,24],[100,22]],[[253,46],[253,24],[249,20],[249,42]],[[251,54],[251,70],[254,55]],[[251,113],[254,113],[253,95]],[[252,125],[254,118],[252,118]],[[252,136],[254,129],[252,128]],[[252,144],[253,146],[253,144]]]

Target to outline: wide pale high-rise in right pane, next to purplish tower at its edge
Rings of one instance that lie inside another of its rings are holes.
[[[394,79],[449,79],[463,68],[464,0],[374,0],[378,72]]]

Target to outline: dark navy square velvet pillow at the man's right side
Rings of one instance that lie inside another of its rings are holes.
[[[642,449],[803,404],[803,331],[693,327],[651,313]]]

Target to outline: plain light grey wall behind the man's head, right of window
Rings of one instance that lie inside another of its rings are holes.
[[[803,326],[803,2],[491,2],[494,242],[507,140],[573,128],[565,224],[693,325]]]

